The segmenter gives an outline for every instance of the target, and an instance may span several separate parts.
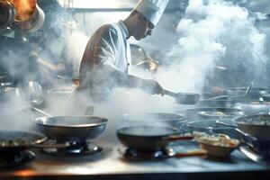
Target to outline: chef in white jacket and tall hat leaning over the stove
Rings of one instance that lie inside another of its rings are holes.
[[[164,95],[155,80],[128,74],[129,38],[142,40],[151,35],[168,0],[140,0],[130,15],[118,23],[105,24],[88,41],[80,63],[80,89],[89,91],[94,101],[105,100],[112,88],[139,88],[148,94]]]

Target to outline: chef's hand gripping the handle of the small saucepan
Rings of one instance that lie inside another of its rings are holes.
[[[141,86],[142,90],[148,94],[161,94],[164,95],[164,90],[161,85],[155,80],[144,79]]]

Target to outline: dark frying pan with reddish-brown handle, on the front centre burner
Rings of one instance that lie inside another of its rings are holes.
[[[169,127],[128,126],[116,131],[121,143],[140,152],[153,152],[164,149],[170,141],[193,139],[191,135],[180,135],[180,131]]]

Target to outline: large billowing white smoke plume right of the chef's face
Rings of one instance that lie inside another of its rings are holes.
[[[156,77],[162,85],[175,91],[201,92],[206,73],[219,61],[228,61],[224,64],[232,68],[242,63],[255,73],[263,69],[265,35],[248,17],[247,9],[224,0],[189,3],[176,28],[178,42],[166,54],[170,67],[161,69]]]

